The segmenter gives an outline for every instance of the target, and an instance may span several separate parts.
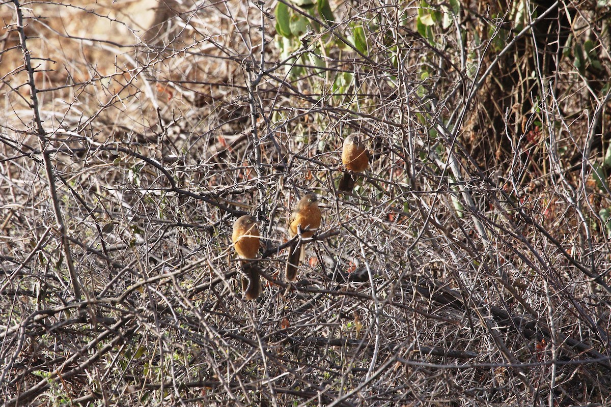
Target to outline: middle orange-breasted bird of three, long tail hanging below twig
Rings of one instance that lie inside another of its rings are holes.
[[[298,234],[298,229],[301,229],[301,237],[304,239],[314,236],[314,229],[320,227],[320,218],[318,198],[316,195],[305,195],[297,203],[297,207],[288,221],[288,236],[293,239],[293,237]],[[304,245],[301,243],[301,239],[295,240],[288,251],[287,268],[285,272],[287,281],[295,281],[295,279],[297,279],[299,262],[304,258]]]

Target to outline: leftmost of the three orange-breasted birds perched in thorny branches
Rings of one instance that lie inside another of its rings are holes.
[[[254,217],[244,215],[233,224],[233,247],[238,258],[254,259],[259,251],[259,227]],[[240,265],[246,278],[242,278],[242,291],[246,300],[254,300],[261,294],[259,267],[257,262],[241,260]]]

